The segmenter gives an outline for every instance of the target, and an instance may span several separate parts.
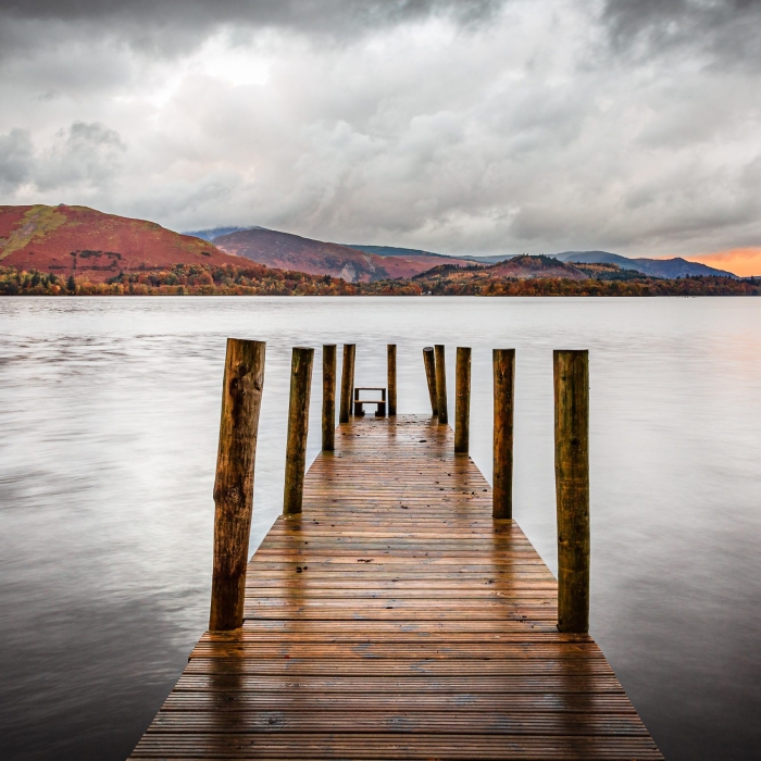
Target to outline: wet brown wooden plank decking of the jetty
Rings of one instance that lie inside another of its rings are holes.
[[[661,759],[553,576],[429,417],[352,419],[133,758]]]

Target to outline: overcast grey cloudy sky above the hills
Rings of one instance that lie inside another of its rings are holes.
[[[445,253],[761,247],[761,0],[0,2],[0,103],[4,204]]]

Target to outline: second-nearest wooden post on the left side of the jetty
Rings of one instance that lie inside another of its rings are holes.
[[[290,364],[290,403],[288,404],[288,442],[283,514],[301,512],[309,434],[309,396],[312,384],[314,349],[295,346]]]

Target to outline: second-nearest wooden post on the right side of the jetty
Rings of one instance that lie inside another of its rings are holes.
[[[495,349],[494,365],[494,489],[491,514],[513,516],[513,400],[515,349]]]

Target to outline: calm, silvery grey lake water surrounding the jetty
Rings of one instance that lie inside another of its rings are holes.
[[[515,347],[515,517],[553,570],[551,350],[588,348],[591,633],[666,758],[761,758],[761,299],[4,298],[0,325],[3,759],[125,758],[203,633],[227,336],[267,342],[252,550],[292,346],[355,342],[385,385],[398,344],[421,413],[422,347],[450,395],[473,347],[489,478],[490,350]]]

